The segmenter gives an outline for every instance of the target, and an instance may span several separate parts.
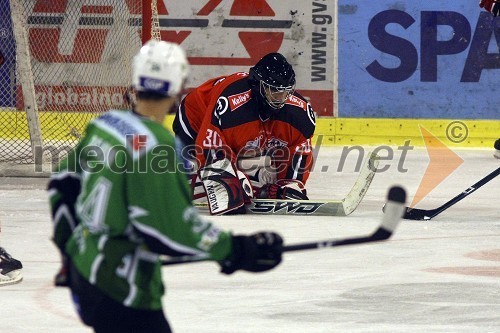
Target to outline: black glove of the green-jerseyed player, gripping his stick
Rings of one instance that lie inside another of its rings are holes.
[[[263,272],[281,262],[283,239],[274,232],[259,232],[250,236],[233,236],[233,252],[219,262],[221,272],[232,274],[242,269]]]

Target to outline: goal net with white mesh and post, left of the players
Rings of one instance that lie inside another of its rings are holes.
[[[0,0],[0,175],[46,176],[86,125],[128,108],[156,0]]]

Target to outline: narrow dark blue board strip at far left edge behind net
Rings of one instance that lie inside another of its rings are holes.
[[[0,107],[15,106],[15,42],[9,0],[0,0]]]

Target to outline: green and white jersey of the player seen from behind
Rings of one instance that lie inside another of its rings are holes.
[[[176,147],[161,124],[112,110],[89,124],[52,177],[81,180],[77,221],[56,212],[54,241],[90,283],[129,307],[161,308],[159,254],[222,260],[231,252],[231,235],[192,206]],[[50,191],[53,211],[71,201]]]

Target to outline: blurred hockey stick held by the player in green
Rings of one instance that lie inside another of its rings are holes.
[[[344,239],[330,239],[320,242],[312,243],[299,243],[295,245],[283,246],[283,252],[293,252],[293,251],[303,251],[312,249],[321,249],[325,247],[339,247],[345,245],[354,244],[365,244],[380,242],[391,237],[394,230],[401,221],[401,216],[403,215],[406,202],[406,192],[403,188],[394,186],[389,190],[387,195],[387,204],[385,207],[384,215],[382,217],[382,223],[380,226],[369,236],[344,238]],[[195,255],[195,256],[180,256],[174,257],[165,261],[162,261],[162,265],[177,265],[194,263],[200,261],[209,261],[207,255]]]

